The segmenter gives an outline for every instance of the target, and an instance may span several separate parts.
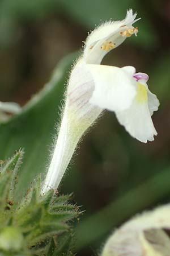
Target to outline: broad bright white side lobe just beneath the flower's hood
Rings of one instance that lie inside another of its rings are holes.
[[[126,67],[126,71],[106,65],[87,64],[87,67],[95,82],[91,104],[111,111],[129,108],[136,94],[135,81],[131,76],[131,72],[135,72],[134,67]]]

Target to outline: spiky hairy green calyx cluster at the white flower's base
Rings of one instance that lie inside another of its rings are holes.
[[[70,222],[79,208],[70,204],[72,195],[59,196],[50,189],[41,195],[41,177],[31,184],[21,203],[15,201],[20,150],[1,164],[0,256],[71,256],[73,229]]]

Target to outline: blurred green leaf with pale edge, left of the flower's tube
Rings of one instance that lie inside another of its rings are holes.
[[[58,64],[52,79],[39,94],[24,107],[23,112],[0,125],[0,159],[7,159],[20,147],[24,148],[18,196],[28,188],[36,174],[44,173],[50,158],[50,146],[59,122],[67,73],[76,55],[66,57]]]

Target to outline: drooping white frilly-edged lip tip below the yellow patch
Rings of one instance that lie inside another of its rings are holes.
[[[139,103],[134,100],[130,108],[116,113],[118,121],[125,126],[126,131],[138,141],[154,141],[157,135],[153,125],[147,102]]]

